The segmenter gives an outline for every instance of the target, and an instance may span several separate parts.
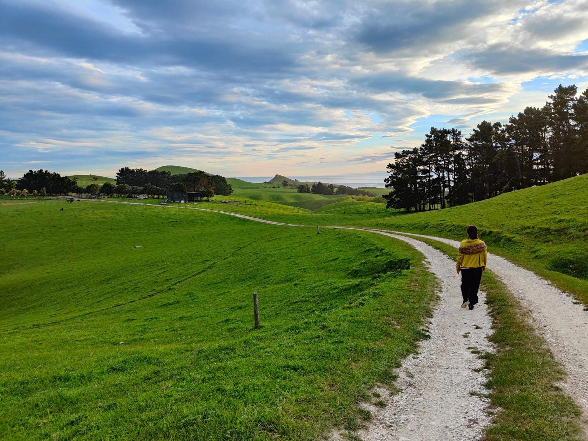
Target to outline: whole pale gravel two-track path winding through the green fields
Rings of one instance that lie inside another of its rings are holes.
[[[205,208],[177,208],[213,211],[273,225],[308,227]],[[472,370],[480,368],[482,363],[467,350],[467,346],[491,350],[486,339],[490,332],[490,318],[484,304],[485,295],[481,293],[480,303],[474,310],[460,309],[460,281],[453,271],[455,264],[443,253],[414,238],[438,240],[456,248],[459,242],[393,230],[328,228],[370,231],[404,240],[426,256],[430,270],[442,285],[441,299],[430,323],[431,338],[424,340],[420,353],[407,358],[400,369],[398,386],[403,392],[390,396],[385,409],[370,409],[375,415],[375,423],[361,433],[362,439],[481,439],[483,426],[490,422],[484,412],[486,402],[470,396],[470,392],[484,392],[483,375]],[[585,419],[588,415],[588,311],[547,280],[505,258],[488,253],[488,266],[531,313],[534,326],[567,372],[563,389],[582,409]],[[468,332],[469,338],[464,338],[462,335]]]

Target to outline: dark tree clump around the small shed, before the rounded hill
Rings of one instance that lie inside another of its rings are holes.
[[[182,183],[183,190],[176,191],[198,191],[205,198],[223,195],[229,196],[233,192],[226,178],[220,175],[209,175],[205,172],[192,172],[185,175],[172,175],[170,172],[160,172],[157,170],[146,171],[142,168],[121,168],[116,173],[116,183],[118,185],[130,185],[132,187],[141,187],[148,189],[149,192],[143,192],[145,195],[158,195],[157,189],[164,194],[175,183]]]

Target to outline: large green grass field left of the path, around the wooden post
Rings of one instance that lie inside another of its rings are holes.
[[[423,336],[432,276],[393,239],[100,201],[0,213],[5,439],[320,439]]]

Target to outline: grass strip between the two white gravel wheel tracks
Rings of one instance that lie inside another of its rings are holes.
[[[456,250],[436,240],[419,238],[455,260]],[[490,370],[486,386],[497,406],[489,441],[580,439],[580,410],[557,383],[564,378],[546,342],[530,324],[522,308],[504,283],[486,270],[481,288],[486,292],[495,353],[485,353]]]

